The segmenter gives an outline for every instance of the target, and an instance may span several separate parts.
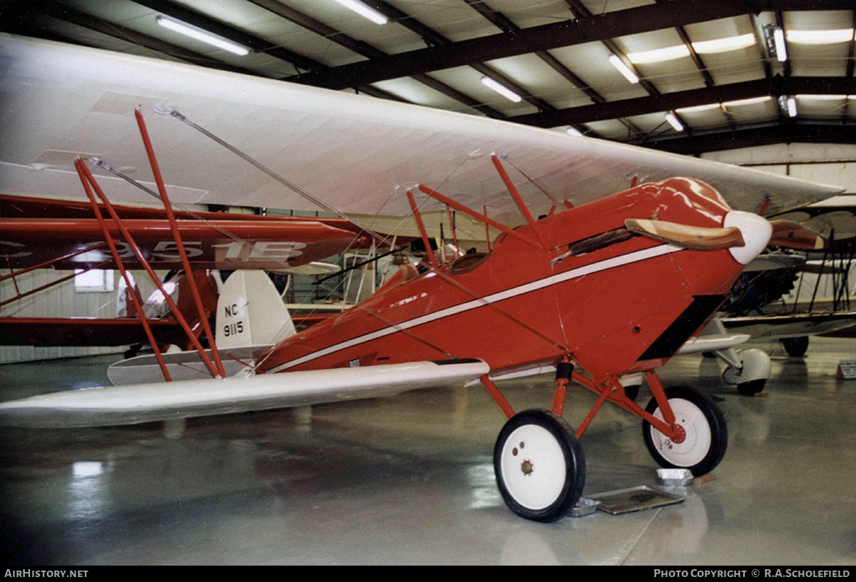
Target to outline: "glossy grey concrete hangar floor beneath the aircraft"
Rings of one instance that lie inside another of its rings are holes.
[[[3,562],[98,564],[856,564],[856,381],[835,378],[856,341],[773,349],[766,397],[721,365],[674,359],[663,383],[706,390],[728,420],[715,479],[686,501],[552,524],[496,490],[503,417],[482,389],[160,425],[2,429]],[[0,366],[0,398],[106,383],[110,359]],[[549,407],[551,380],[502,386]],[[650,397],[643,389],[639,402]],[[579,425],[594,401],[570,391]],[[582,439],[586,495],[655,485],[639,420],[606,405]]]

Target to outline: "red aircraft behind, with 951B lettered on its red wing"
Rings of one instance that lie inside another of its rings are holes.
[[[188,324],[201,333],[187,276],[181,272],[180,256],[163,209],[113,205],[134,241],[153,269],[179,272],[169,275],[171,295]],[[99,215],[110,220],[104,205]],[[0,261],[9,273],[0,282],[11,281],[36,269],[92,270],[115,268],[110,249],[92,206],[78,200],[44,199],[0,195]],[[337,217],[281,217],[235,212],[176,211],[178,231],[185,251],[193,259],[194,277],[205,312],[216,311],[221,282],[210,270],[241,269],[294,270],[346,249],[362,248],[375,237],[354,223]],[[114,227],[112,235],[121,237]],[[117,242],[120,257],[128,269],[140,269],[140,262],[127,241]],[[66,282],[55,282],[12,294],[0,307]],[[163,283],[167,281],[164,280]],[[124,291],[126,294],[128,290]],[[128,297],[120,297],[125,308],[116,318],[36,318],[0,317],[0,345],[8,346],[127,346],[147,343],[139,314]],[[152,294],[143,310],[158,344],[178,344],[190,348],[189,341],[169,309],[158,317],[163,295]],[[297,319],[300,319],[299,317]]]

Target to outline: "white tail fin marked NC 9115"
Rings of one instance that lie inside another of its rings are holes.
[[[236,270],[217,301],[217,347],[272,345],[294,336],[288,308],[264,271]]]

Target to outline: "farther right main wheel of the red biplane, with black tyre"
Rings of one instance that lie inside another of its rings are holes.
[[[719,408],[706,395],[686,386],[675,386],[665,392],[675,413],[675,423],[681,425],[683,434],[680,442],[678,439],[673,442],[643,421],[642,434],[651,456],[660,466],[690,469],[696,477],[713,471],[728,445],[728,429]],[[645,410],[663,419],[653,398]]]

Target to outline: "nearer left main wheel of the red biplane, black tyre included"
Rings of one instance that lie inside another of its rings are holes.
[[[506,505],[527,520],[558,520],[586,483],[586,460],[574,430],[546,410],[526,410],[508,420],[496,438],[493,467]]]

